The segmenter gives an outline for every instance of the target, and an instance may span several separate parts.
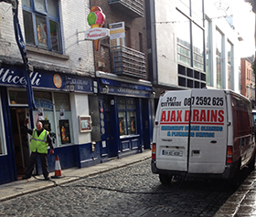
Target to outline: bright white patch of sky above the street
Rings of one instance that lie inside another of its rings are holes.
[[[219,2],[219,0],[213,1]],[[221,0],[221,2],[229,4],[233,14],[233,26],[243,38],[243,41],[240,42],[241,57],[255,55],[255,14],[252,12],[251,5],[245,3],[244,0]]]

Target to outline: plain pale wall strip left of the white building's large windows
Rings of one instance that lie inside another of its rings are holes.
[[[167,21],[176,20],[176,1],[149,2],[151,9],[155,10],[155,17],[152,16],[151,21],[152,28],[155,29],[155,38],[152,43],[155,43],[156,59],[153,59],[153,64],[157,67],[158,84],[177,85],[176,24],[167,23]]]

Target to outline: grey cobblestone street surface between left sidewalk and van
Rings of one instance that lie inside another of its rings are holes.
[[[150,160],[0,203],[0,216],[214,216],[234,191],[223,181],[163,186]]]

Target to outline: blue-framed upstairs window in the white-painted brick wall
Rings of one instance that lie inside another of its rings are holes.
[[[22,0],[27,45],[61,52],[57,0]]]

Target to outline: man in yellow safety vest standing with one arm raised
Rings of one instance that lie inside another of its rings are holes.
[[[24,125],[27,128],[28,119],[24,120]],[[27,171],[25,173],[25,176],[22,177],[23,180],[27,180],[31,177],[32,171],[34,170],[34,165],[36,163],[37,157],[39,156],[41,160],[42,165],[42,171],[43,175],[45,177],[45,180],[48,181],[48,146],[50,147],[49,154],[54,153],[54,148],[52,145],[52,140],[49,136],[48,130],[43,128],[43,124],[41,121],[37,121],[37,129],[28,129],[27,133],[32,135],[31,141],[30,141],[30,150],[31,154],[29,157],[28,167]]]

